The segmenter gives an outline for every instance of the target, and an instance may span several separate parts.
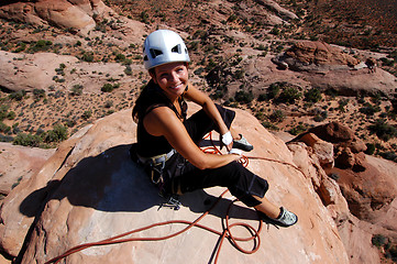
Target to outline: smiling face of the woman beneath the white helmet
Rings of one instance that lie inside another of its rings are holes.
[[[181,96],[188,84],[188,69],[186,63],[163,64],[150,72],[151,77],[175,101]]]

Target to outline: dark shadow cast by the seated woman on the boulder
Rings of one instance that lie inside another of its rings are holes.
[[[98,156],[81,160],[60,182],[48,182],[46,187],[29,195],[22,201],[20,211],[33,217],[37,211],[30,205],[65,198],[73,206],[101,211],[144,211],[159,207],[165,200],[158,196],[157,188],[142,167],[131,161],[130,147],[118,145]],[[181,196],[180,201],[194,212],[205,212],[217,201],[217,197],[197,190]],[[230,202],[229,199],[220,199],[211,215],[223,218]],[[254,210],[238,205],[233,205],[230,217],[257,219]]]

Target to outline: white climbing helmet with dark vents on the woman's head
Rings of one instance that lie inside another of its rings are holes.
[[[143,44],[143,65],[145,68],[151,69],[162,64],[175,62],[190,62],[184,40],[169,30],[157,30],[151,33]]]

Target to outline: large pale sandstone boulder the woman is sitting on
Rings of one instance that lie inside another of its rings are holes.
[[[268,133],[252,116],[238,110],[234,127],[255,145],[250,154],[294,164],[285,143]],[[22,263],[43,263],[73,245],[110,238],[152,222],[194,220],[208,208],[203,201],[213,200],[211,196],[223,190],[211,188],[206,190],[207,194],[187,194],[181,197],[183,208],[179,211],[157,210],[161,200],[156,189],[129,158],[128,150],[129,144],[134,142],[134,131],[131,112],[121,111],[96,121],[92,127],[64,142],[40,174],[7,197],[0,211],[1,246],[12,255],[18,254],[37,213],[35,231],[29,240]],[[306,166],[313,173],[321,169],[312,169],[310,164]],[[249,168],[268,179],[271,189],[267,198],[295,211],[299,223],[282,230],[265,228],[261,234],[261,249],[252,255],[242,254],[225,242],[220,261],[349,263],[335,223],[315,191],[311,176],[293,166],[266,161],[252,160]],[[337,185],[331,186],[326,188],[330,195],[334,194],[333,198],[329,196],[329,206],[332,207],[332,200],[337,201],[341,195],[338,195]],[[222,206],[206,218],[206,224],[216,229],[221,227],[229,199],[232,197],[227,195]],[[232,216],[232,220],[256,222],[253,220],[254,211],[249,209],[235,208]],[[158,237],[179,229],[174,224],[142,235]],[[240,233],[239,230],[236,232]],[[162,242],[87,249],[68,257],[67,263],[132,263],[135,260],[142,263],[202,263],[210,260],[217,240],[218,235],[194,229]]]

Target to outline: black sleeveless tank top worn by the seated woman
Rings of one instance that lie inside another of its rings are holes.
[[[179,114],[179,112],[172,103],[172,101],[166,97],[162,88],[159,88],[159,86],[154,84],[153,81],[150,81],[141,92],[141,96],[136,100],[136,103],[139,105],[137,106],[139,121],[137,121],[137,131],[136,131],[137,154],[143,157],[152,157],[168,153],[173,148],[173,146],[168,143],[168,141],[164,136],[154,136],[147,133],[147,131],[143,125],[143,119],[148,112],[151,112],[153,109],[157,107],[168,107],[175,112],[175,114],[178,118],[185,121],[187,113],[187,103],[184,100],[184,97],[181,96],[179,98],[179,106],[181,109],[181,114]]]

